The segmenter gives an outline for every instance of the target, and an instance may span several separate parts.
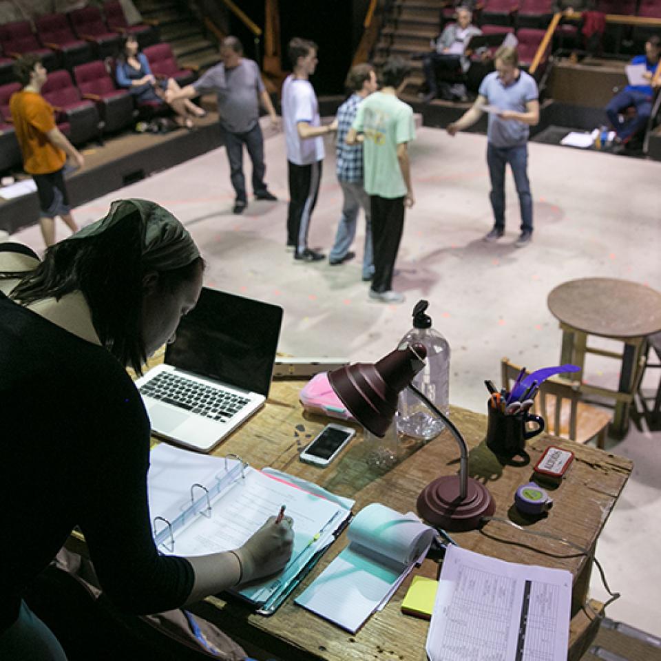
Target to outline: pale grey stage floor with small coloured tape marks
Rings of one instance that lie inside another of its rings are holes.
[[[328,151],[333,147],[327,143]],[[508,179],[507,235],[481,241],[492,225],[487,197],[485,137],[450,138],[422,128],[413,143],[412,174],[417,203],[408,211],[395,288],[406,303],[368,302],[359,260],[342,266],[294,264],[284,249],[287,200],[284,138],[266,141],[266,180],[280,202],[251,202],[233,216],[233,191],[222,149],[162,172],[76,209],[91,222],[111,200],[143,197],[173,211],[198,240],[207,259],[207,284],[284,307],[280,350],[295,356],[346,356],[373,361],[410,327],[419,298],[430,300],[434,326],[452,347],[450,401],[485,412],[483,380],[499,381],[508,356],[528,368],[556,364],[560,330],[546,305],[549,291],[576,277],[620,277],[661,290],[661,163],[569,148],[529,146],[534,194],[534,242],[513,245],[518,200]],[[509,176],[508,176],[509,177]],[[311,246],[328,251],[342,194],[333,154],[324,162]],[[65,229],[59,227],[59,235]],[[364,227],[359,228],[357,252]],[[41,249],[36,227],[14,235]],[[603,343],[602,346],[617,346]],[[616,366],[588,359],[587,377],[616,386]],[[653,378],[646,383],[655,386]],[[622,598],[609,616],[661,635],[661,432],[631,426],[624,441],[608,448],[633,459],[633,475],[597,549],[611,588]],[[605,598],[595,573],[593,596]]]

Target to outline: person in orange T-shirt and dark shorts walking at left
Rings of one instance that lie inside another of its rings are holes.
[[[23,168],[32,175],[39,195],[39,224],[46,247],[55,242],[55,218],[60,216],[72,232],[78,225],[71,215],[64,182],[64,164],[69,156],[76,167],[85,160],[55,124],[52,105],[41,96],[46,70],[36,55],[26,55],[14,65],[23,89],[12,94],[10,110],[16,137],[23,153]]]

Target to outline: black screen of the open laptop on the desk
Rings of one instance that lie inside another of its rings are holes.
[[[165,362],[266,397],[281,324],[277,305],[204,287],[182,317]]]

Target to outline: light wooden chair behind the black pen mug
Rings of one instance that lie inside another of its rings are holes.
[[[503,387],[511,390],[521,367],[510,359],[501,359]],[[540,386],[533,411],[543,417],[547,434],[563,437],[576,443],[587,443],[596,437],[597,447],[603,448],[611,413],[580,401],[580,384],[560,377],[547,379]]]

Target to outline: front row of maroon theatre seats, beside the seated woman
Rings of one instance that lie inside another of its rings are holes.
[[[154,76],[174,78],[182,87],[195,80],[191,70],[179,69],[169,44],[158,43],[143,52]],[[114,60],[107,58],[74,66],[73,79],[64,69],[48,74],[41,95],[54,107],[56,124],[72,144],[101,140],[105,134],[129,127],[137,118],[167,112],[162,101],[136,103],[131,92],[118,88],[114,71]],[[9,108],[12,94],[20,89],[19,83],[0,85],[0,171],[21,164]]]

